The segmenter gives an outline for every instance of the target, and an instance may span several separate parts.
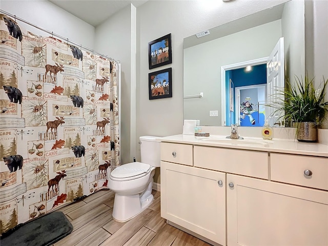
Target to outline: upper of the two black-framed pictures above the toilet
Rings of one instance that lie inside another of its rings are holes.
[[[172,63],[171,33],[148,43],[149,69]]]

